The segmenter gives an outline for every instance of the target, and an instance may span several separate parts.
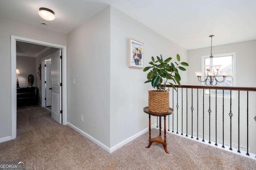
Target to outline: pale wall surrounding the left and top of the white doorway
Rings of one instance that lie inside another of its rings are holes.
[[[11,136],[10,35],[66,45],[66,35],[0,17],[0,139]]]

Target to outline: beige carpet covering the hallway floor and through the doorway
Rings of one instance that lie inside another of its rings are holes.
[[[152,137],[158,130],[152,130]],[[60,125],[47,109],[17,110],[17,138],[0,143],[0,161],[25,161],[27,169],[89,170],[256,170],[256,160],[245,158],[167,133],[167,148],[153,143],[148,133],[109,154],[78,132]]]

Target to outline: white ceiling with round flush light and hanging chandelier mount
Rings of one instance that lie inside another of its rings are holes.
[[[256,39],[256,0],[1,0],[0,16],[67,34],[108,5],[186,49],[209,47],[209,35],[213,46]]]

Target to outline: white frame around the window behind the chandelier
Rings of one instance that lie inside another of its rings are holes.
[[[227,56],[232,56],[232,87],[235,87],[236,86],[236,52],[230,52],[230,53],[220,53],[220,54],[214,54],[213,55],[214,57],[227,57]],[[204,60],[206,58],[208,58],[209,55],[203,55],[202,56],[202,59],[201,59],[201,70],[203,72],[203,75],[202,75],[202,78],[204,79],[205,78],[205,68],[204,68]],[[214,64],[214,63],[213,63]],[[201,83],[202,86],[205,86],[205,82],[202,82]],[[218,84],[217,84],[218,86]],[[213,86],[214,87],[214,86]],[[203,92],[201,93],[203,94]],[[209,94],[206,94],[205,93],[205,90],[204,90],[204,96],[208,96],[209,97]],[[215,94],[211,94],[211,96],[215,96]],[[218,98],[222,98],[222,95],[218,95],[217,94],[217,97]],[[230,98],[230,95],[224,95],[224,98]],[[236,98],[236,91],[232,91],[232,98]]]

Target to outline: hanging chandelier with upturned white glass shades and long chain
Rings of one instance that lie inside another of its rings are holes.
[[[220,74],[223,77],[222,81],[219,81],[216,76],[219,73],[220,67],[221,65],[213,65],[213,55],[212,55],[212,37],[214,35],[210,35],[209,37],[211,37],[211,55],[210,55],[210,65],[205,65],[204,68],[206,69],[206,73],[207,73],[207,77],[205,80],[201,80],[201,77],[203,75],[202,72],[195,72],[196,76],[198,77],[198,81],[200,82],[205,82],[206,86],[216,86],[218,82],[224,82],[226,76],[228,76],[228,72],[220,72]],[[217,72],[214,72],[214,69],[217,70]]]

